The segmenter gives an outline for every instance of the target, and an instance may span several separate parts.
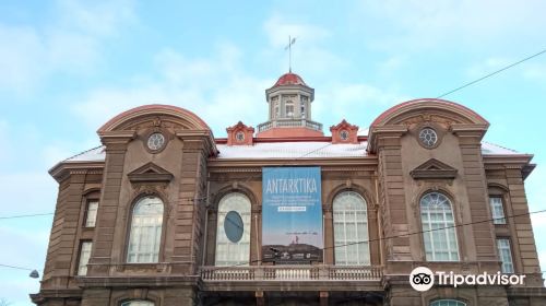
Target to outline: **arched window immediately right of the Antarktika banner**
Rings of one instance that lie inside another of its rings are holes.
[[[335,264],[370,264],[368,212],[364,198],[344,191],[333,202]]]

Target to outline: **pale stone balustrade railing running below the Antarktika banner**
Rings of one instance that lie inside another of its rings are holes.
[[[201,267],[203,281],[379,281],[381,267],[249,266]]]

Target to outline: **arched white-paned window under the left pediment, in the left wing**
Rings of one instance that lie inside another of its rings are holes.
[[[140,199],[131,214],[127,262],[158,261],[162,226],[163,201],[157,197]]]

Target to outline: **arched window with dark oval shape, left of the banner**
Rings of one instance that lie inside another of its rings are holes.
[[[218,203],[216,266],[248,264],[250,257],[250,200],[232,192]]]

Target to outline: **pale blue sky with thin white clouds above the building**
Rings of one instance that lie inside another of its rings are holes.
[[[0,1],[0,217],[52,212],[47,170],[133,106],[185,107],[215,137],[265,121],[288,35],[328,133],[544,50],[545,11],[539,0]],[[546,208],[545,84],[543,55],[446,97],[490,122],[486,141],[534,154],[531,211]],[[532,221],[546,270],[546,214]],[[0,219],[0,263],[41,272],[50,227],[50,215]],[[0,267],[0,298],[32,305],[39,282],[27,274]]]

